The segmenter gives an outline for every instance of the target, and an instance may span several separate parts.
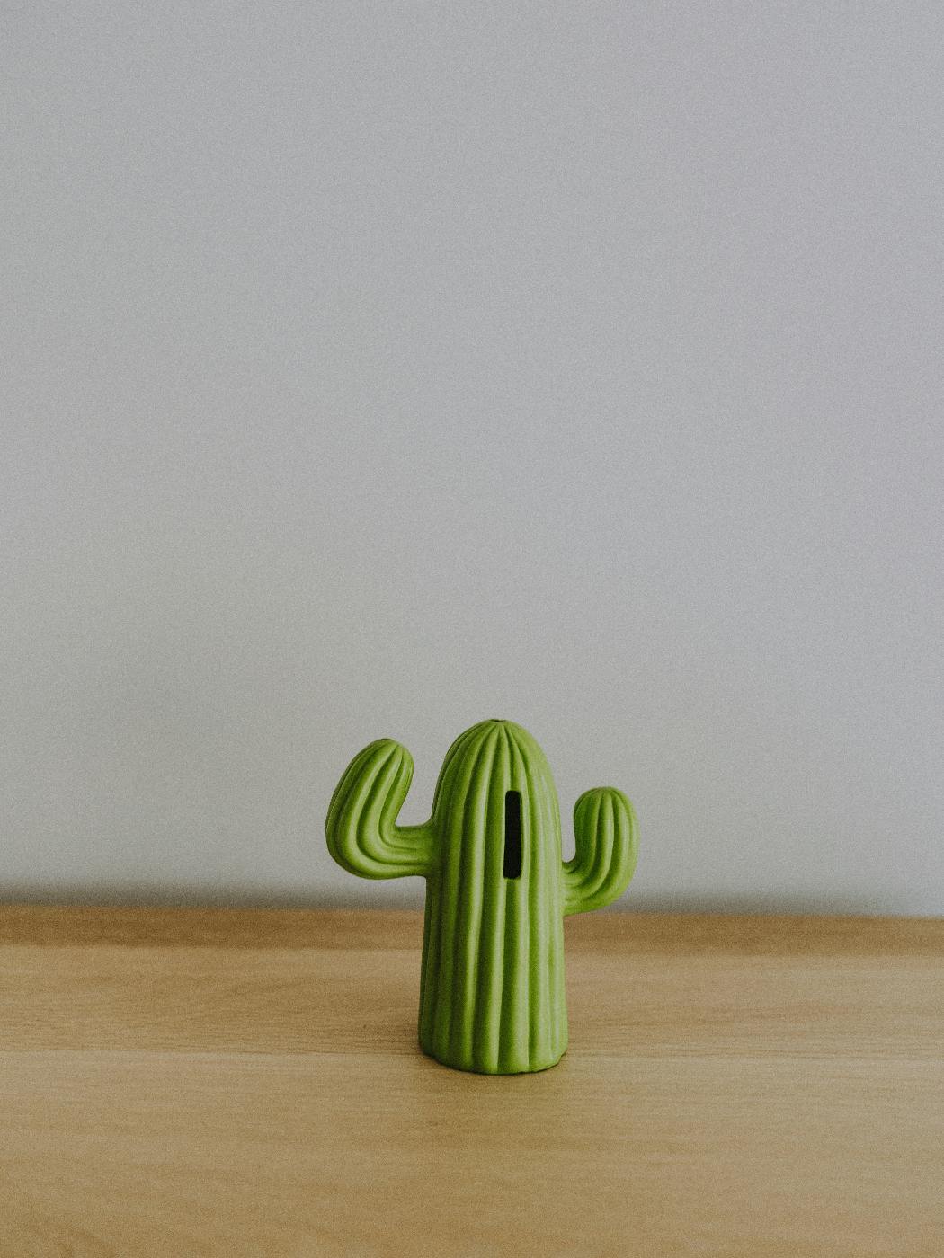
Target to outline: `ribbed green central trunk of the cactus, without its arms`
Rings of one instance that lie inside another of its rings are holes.
[[[498,722],[469,735],[443,767],[433,810],[439,859],[427,877],[419,1040],[463,1071],[540,1071],[568,1038],[560,827],[520,738]],[[497,842],[509,791],[525,818],[515,878]]]

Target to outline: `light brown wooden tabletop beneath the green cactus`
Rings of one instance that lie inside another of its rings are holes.
[[[944,1255],[944,921],[569,918],[542,1074],[415,913],[0,907],[3,1258]]]

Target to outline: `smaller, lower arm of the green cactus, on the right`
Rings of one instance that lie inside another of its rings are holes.
[[[564,862],[564,912],[585,913],[622,896],[636,868],[633,805],[613,786],[585,791],[574,805],[576,854]]]

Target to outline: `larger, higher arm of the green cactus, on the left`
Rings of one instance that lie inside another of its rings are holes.
[[[429,873],[430,825],[396,825],[413,779],[413,759],[393,738],[379,738],[355,756],[331,796],[327,848],[349,873],[361,878],[403,878]]]

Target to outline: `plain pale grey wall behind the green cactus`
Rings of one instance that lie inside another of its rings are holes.
[[[944,912],[938,3],[4,5],[0,898],[526,725],[628,907]]]

